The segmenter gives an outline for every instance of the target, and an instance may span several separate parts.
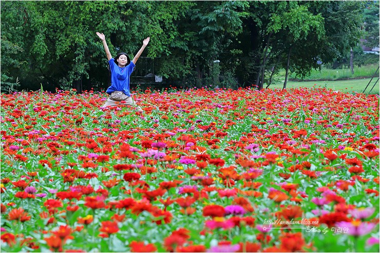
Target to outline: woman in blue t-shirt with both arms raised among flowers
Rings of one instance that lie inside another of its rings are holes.
[[[109,94],[109,97],[103,107],[118,105],[135,106],[135,101],[130,97],[129,91],[130,74],[134,71],[136,61],[148,45],[150,38],[147,37],[144,39],[143,46],[131,62],[129,56],[123,52],[119,53],[115,59],[112,58],[104,34],[97,32],[97,35],[103,41],[104,50],[106,51],[109,68],[111,70],[111,86],[108,87],[106,91]],[[139,106],[138,108],[140,109]]]

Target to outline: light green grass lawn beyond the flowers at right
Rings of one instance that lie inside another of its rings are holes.
[[[374,77],[370,83],[370,85],[366,89],[366,93],[368,93],[373,87],[378,77]],[[351,79],[351,80],[331,80],[331,81],[288,81],[287,89],[290,88],[299,88],[299,87],[326,87],[328,89],[339,90],[339,91],[347,91],[347,92],[363,92],[363,90],[368,85],[368,82],[371,78],[364,79]],[[379,82],[378,81],[375,87],[372,89],[371,94],[379,94]],[[283,80],[273,83],[269,88],[282,88]]]

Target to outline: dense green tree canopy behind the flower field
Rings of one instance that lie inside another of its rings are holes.
[[[105,89],[107,60],[97,31],[112,55],[131,58],[149,36],[143,56],[154,59],[166,83],[208,85],[220,73],[224,87],[261,89],[279,68],[305,76],[318,60],[347,56],[365,22],[376,40],[368,22],[378,8],[367,7],[364,1],[2,1],[2,92],[41,84]]]

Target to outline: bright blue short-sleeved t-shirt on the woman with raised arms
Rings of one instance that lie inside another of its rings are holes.
[[[111,86],[108,87],[106,92],[111,94],[114,91],[122,91],[125,95],[130,96],[129,77],[135,70],[136,65],[130,61],[129,65],[120,68],[113,58],[111,58],[108,63],[111,70]]]

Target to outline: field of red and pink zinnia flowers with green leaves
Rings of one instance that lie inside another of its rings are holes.
[[[2,251],[379,251],[377,95],[106,98],[2,95]]]

